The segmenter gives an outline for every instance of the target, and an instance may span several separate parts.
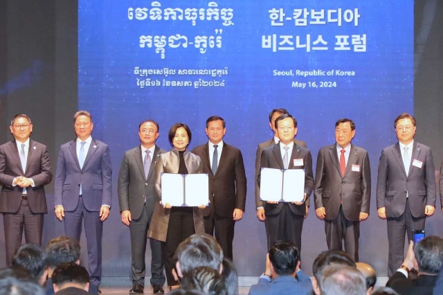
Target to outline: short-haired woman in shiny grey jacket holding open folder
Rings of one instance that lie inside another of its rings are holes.
[[[203,164],[199,156],[188,151],[191,140],[188,125],[176,123],[169,130],[169,141],[174,148],[161,154],[155,166],[155,190],[160,202],[156,204],[152,215],[152,224],[147,235],[150,238],[165,242],[166,279],[169,286],[179,286],[174,279],[172,269],[175,267],[174,253],[179,244],[194,233],[204,233],[204,222],[201,215],[205,205],[197,207],[172,207],[161,203],[161,173],[196,174],[203,173]]]

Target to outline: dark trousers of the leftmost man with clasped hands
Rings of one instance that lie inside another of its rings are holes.
[[[42,213],[30,211],[28,200],[22,199],[19,211],[3,213],[3,227],[5,231],[6,264],[11,265],[15,250],[21,245],[23,229],[25,230],[26,244],[42,245],[43,233]]]

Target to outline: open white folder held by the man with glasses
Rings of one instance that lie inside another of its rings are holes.
[[[260,200],[271,202],[303,202],[305,199],[304,169],[262,168]]]

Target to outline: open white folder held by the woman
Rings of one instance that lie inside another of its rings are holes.
[[[171,206],[209,206],[207,174],[161,174],[161,202]]]

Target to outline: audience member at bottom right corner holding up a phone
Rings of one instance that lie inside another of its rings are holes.
[[[443,265],[443,239],[429,235],[417,242],[410,241],[406,258],[392,275],[386,287],[391,287],[400,295],[432,295],[437,274]],[[416,269],[418,277],[408,278],[409,271]]]

